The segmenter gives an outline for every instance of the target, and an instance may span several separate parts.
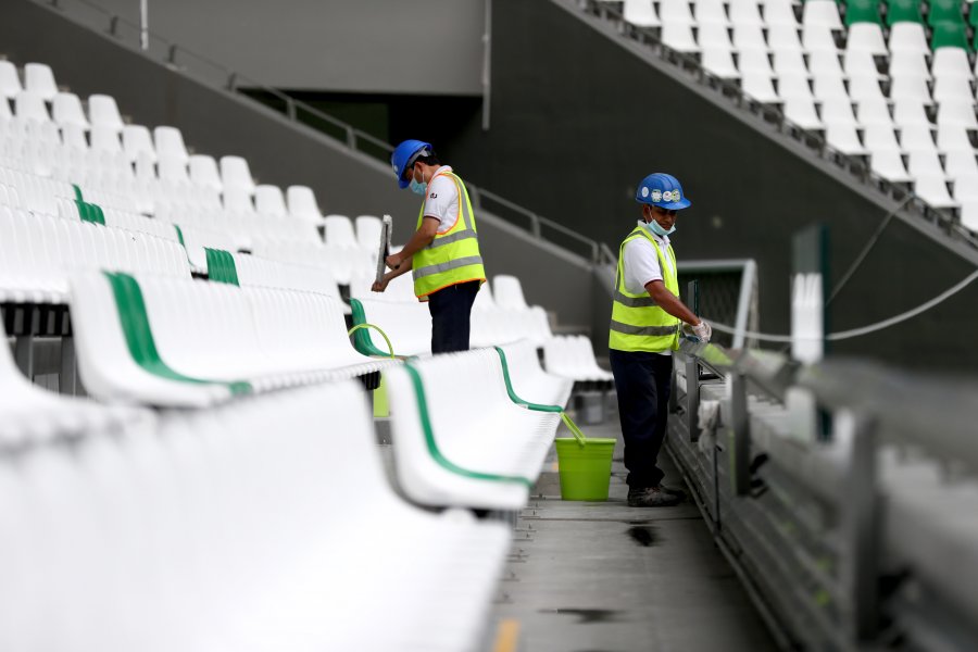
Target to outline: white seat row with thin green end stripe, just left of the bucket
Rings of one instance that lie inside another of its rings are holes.
[[[560,415],[514,403],[494,350],[438,355],[384,376],[394,465],[411,500],[500,511],[526,505]],[[437,400],[446,387],[453,400]]]

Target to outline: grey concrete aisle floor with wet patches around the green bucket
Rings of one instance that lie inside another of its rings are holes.
[[[588,437],[617,437],[607,503],[560,500],[555,454],[524,511],[490,638],[514,619],[519,652],[774,650],[695,504],[631,509],[617,413]],[[559,437],[567,436],[566,431]],[[667,480],[681,486],[667,455]],[[498,650],[500,638],[496,638]]]

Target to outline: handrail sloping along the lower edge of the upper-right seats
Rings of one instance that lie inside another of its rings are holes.
[[[908,202],[913,206],[914,212],[924,217],[928,222],[940,227],[952,239],[961,240],[970,247],[978,249],[978,235],[970,233],[962,226],[953,213],[944,209],[936,209],[916,197],[912,189],[904,188],[901,184],[889,181],[872,171],[865,156],[845,154],[832,148],[823,134],[804,129],[785,117],[785,112],[777,105],[766,105],[755,100],[736,83],[706,71],[700,63],[699,59],[684,52],[672,49],[657,36],[654,29],[637,27],[625,21],[624,10],[617,3],[603,2],[601,0],[581,0],[579,7],[582,11],[607,20],[612,18],[622,27],[620,33],[640,43],[648,43],[652,47],[662,60],[673,64],[678,64],[680,70],[692,71],[693,76],[701,86],[713,86],[722,96],[731,98],[738,108],[747,105],[756,105],[762,112],[762,116],[770,117],[777,127],[778,133],[786,134],[798,141],[808,141],[814,145],[813,149],[818,151],[819,158],[836,163],[839,167],[849,171],[849,173],[861,181],[863,185],[873,186],[883,195],[896,201],[903,201],[907,197],[912,197],[914,201]],[[768,122],[772,122],[768,121]]]

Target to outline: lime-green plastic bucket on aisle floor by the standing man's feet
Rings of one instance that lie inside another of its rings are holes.
[[[557,466],[561,472],[561,498],[564,500],[607,500],[614,439],[584,440],[557,437]]]

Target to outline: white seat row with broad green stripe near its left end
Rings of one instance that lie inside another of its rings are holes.
[[[104,401],[190,406],[390,364],[353,350],[339,303],[310,292],[79,274],[71,305],[82,379]]]

